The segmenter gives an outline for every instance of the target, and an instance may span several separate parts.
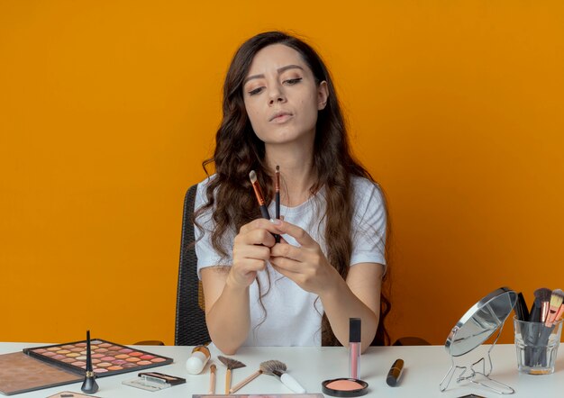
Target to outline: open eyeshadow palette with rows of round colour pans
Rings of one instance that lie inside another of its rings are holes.
[[[149,367],[172,363],[172,358],[161,357],[141,349],[115,344],[103,339],[90,341],[92,366],[97,377],[118,375]],[[52,346],[23,348],[23,353],[47,363],[84,375],[86,370],[86,340]]]

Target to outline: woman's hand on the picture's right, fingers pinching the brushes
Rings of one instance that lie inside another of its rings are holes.
[[[280,221],[277,228],[301,245],[296,247],[288,244],[286,240],[281,240],[281,243],[269,250],[270,264],[280,274],[292,279],[302,289],[320,296],[335,287],[338,282],[344,284],[319,244],[307,232],[289,222]]]

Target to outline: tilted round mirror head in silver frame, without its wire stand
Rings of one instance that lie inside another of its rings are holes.
[[[445,348],[459,357],[477,348],[502,326],[517,302],[517,294],[500,287],[474,304],[450,331]]]

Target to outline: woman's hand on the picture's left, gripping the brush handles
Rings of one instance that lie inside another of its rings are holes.
[[[278,226],[266,219],[245,224],[233,241],[233,264],[226,284],[246,288],[257,277],[257,272],[267,267],[270,248],[274,246],[273,233]]]

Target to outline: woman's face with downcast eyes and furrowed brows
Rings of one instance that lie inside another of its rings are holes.
[[[317,112],[327,103],[327,83],[315,83],[299,52],[273,44],[252,60],[243,99],[252,129],[265,144],[313,142]]]

